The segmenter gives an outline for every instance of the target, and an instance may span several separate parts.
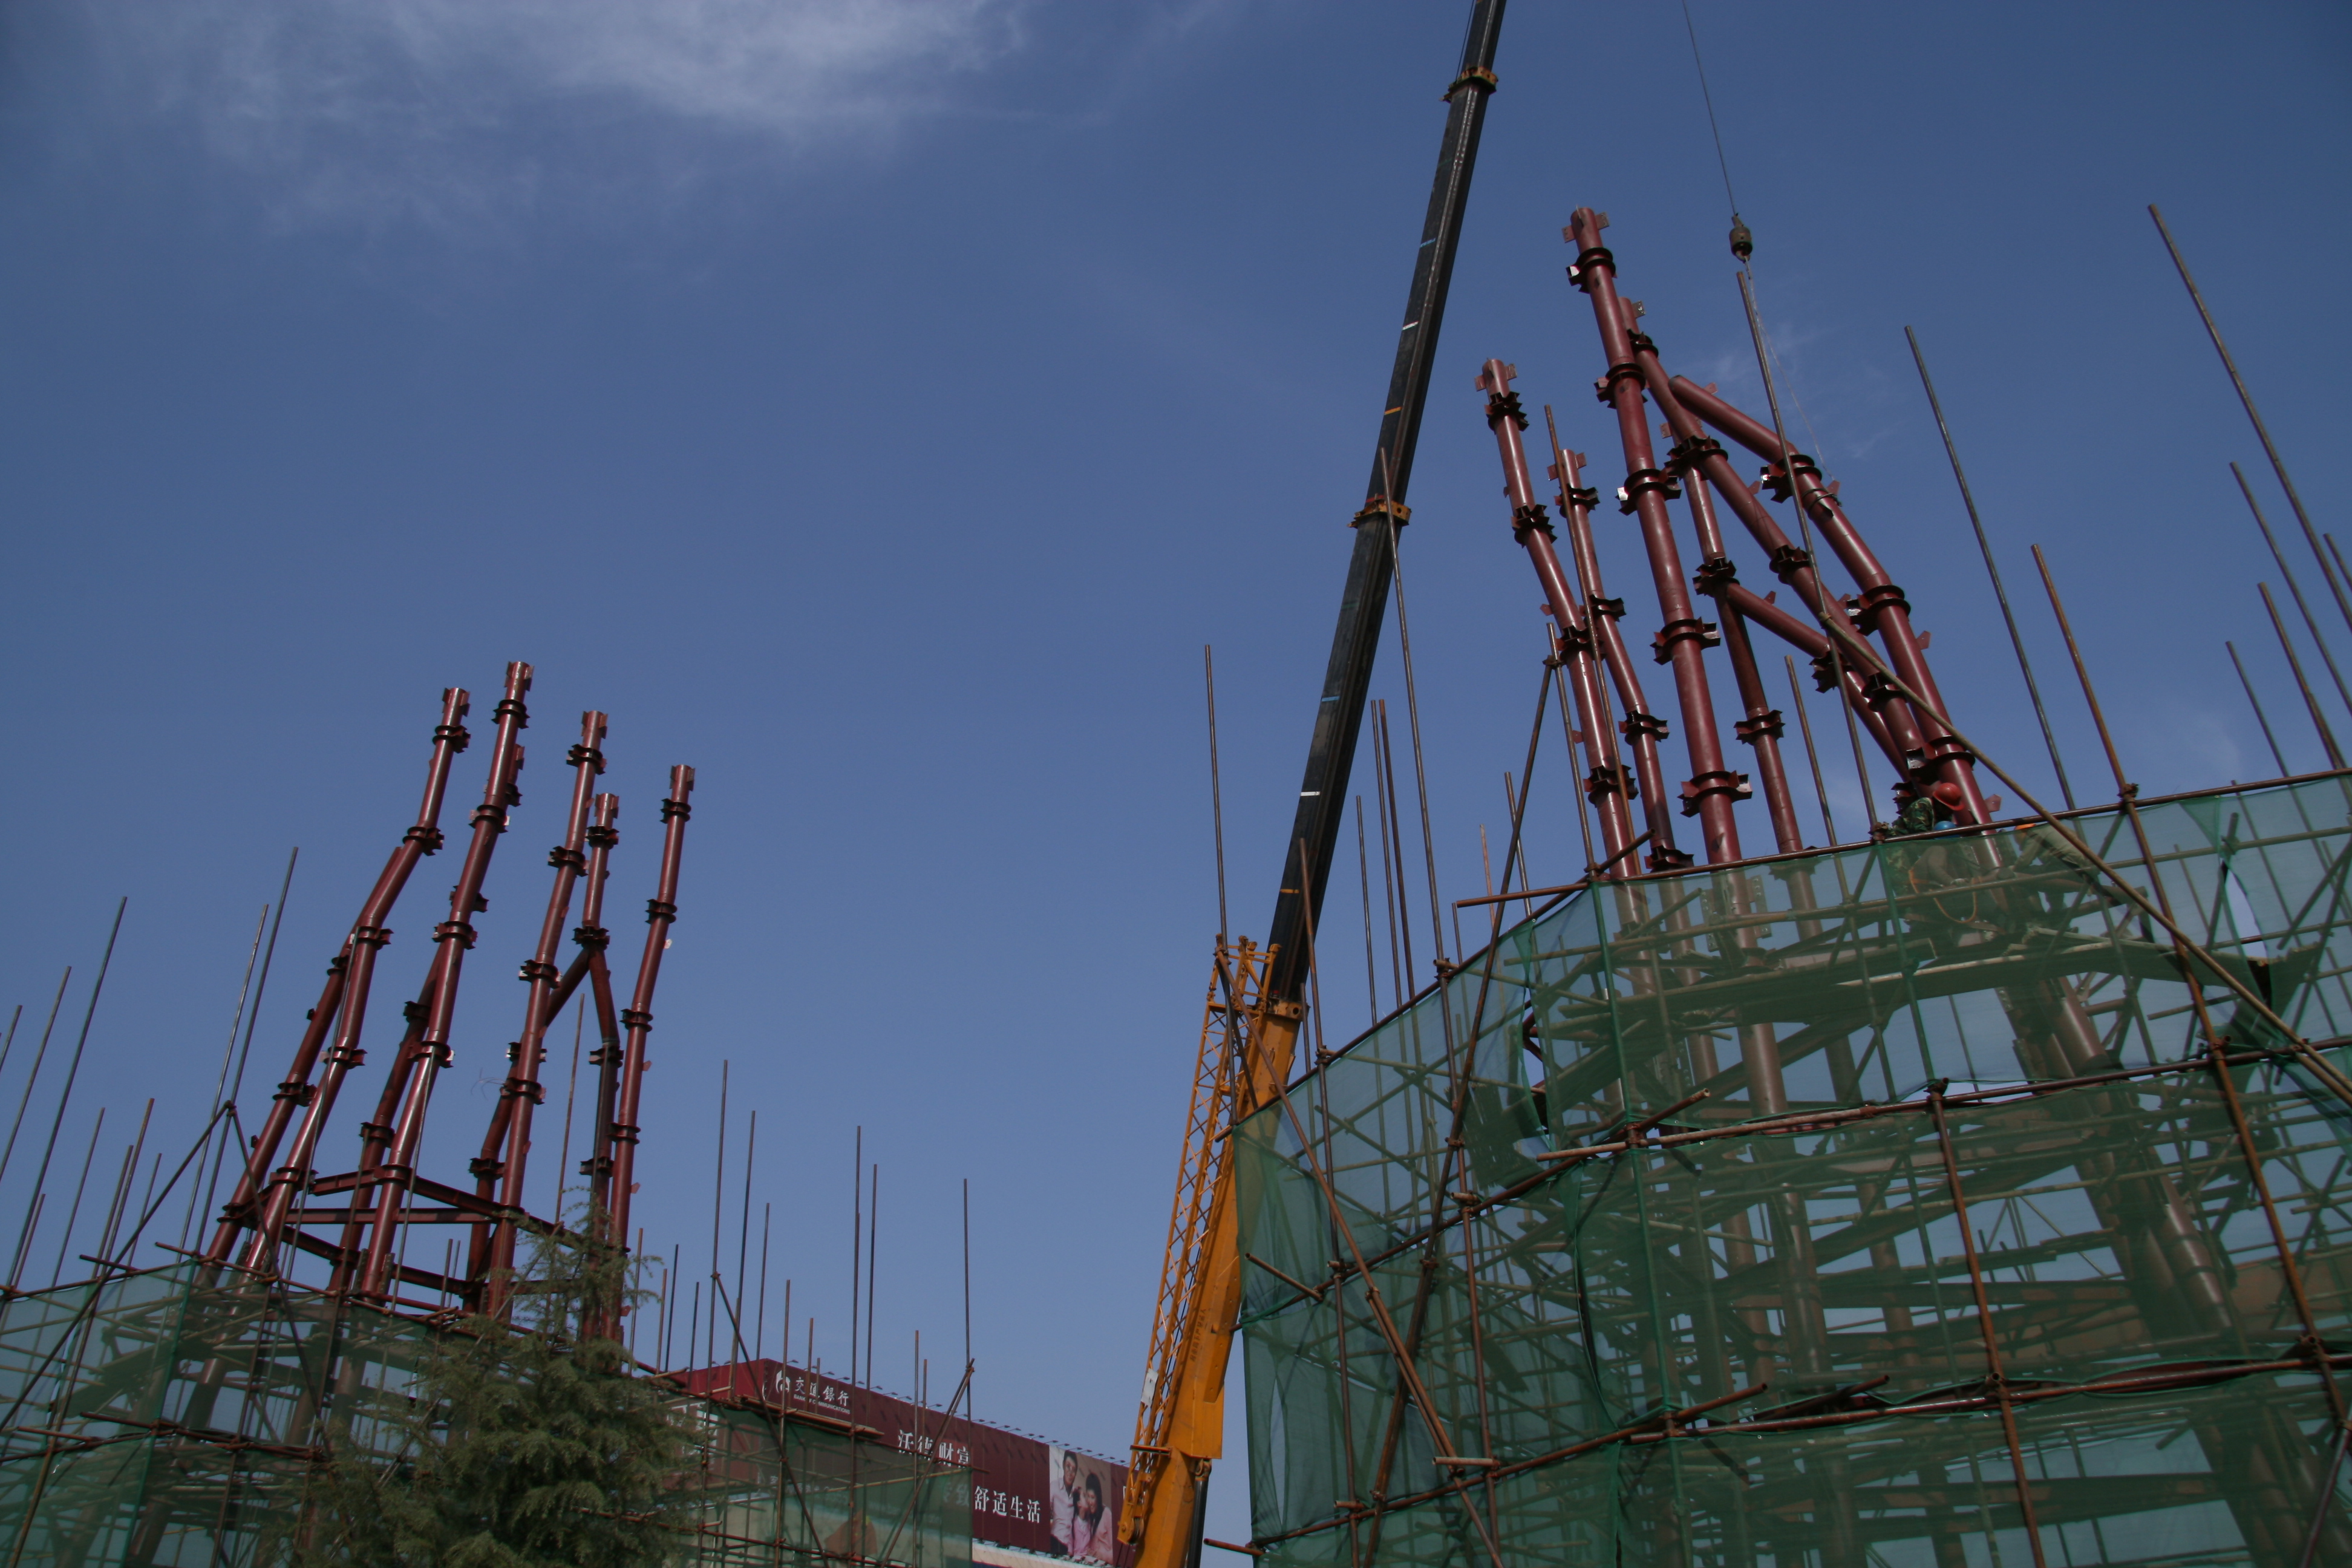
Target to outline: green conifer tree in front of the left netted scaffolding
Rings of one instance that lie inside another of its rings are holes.
[[[581,1234],[600,1234],[595,1215]],[[350,1441],[310,1488],[301,1568],[637,1568],[684,1465],[684,1427],[628,1354],[593,1333],[630,1291],[616,1248],[534,1239],[513,1321],[440,1335],[379,1441]],[[390,1439],[390,1441],[381,1441]]]

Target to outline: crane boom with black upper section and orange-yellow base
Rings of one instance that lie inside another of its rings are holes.
[[[1322,914],[1341,830],[1341,802],[1348,797],[1348,771],[1381,646],[1381,621],[1397,567],[1397,531],[1409,517],[1404,491],[1421,440],[1421,409],[1430,390],[1446,287],[1454,280],[1463,209],[1470,202],[1470,169],[1486,122],[1486,96],[1496,87],[1494,49],[1501,31],[1503,0],[1475,0],[1461,66],[1444,94],[1446,132],[1437,153],[1437,179],[1414,252],[1414,284],[1404,301],[1388,402],[1381,409],[1381,444],[1374,451],[1364,508],[1352,524],[1355,550],[1348,557],[1322,701],[1315,708],[1315,733],[1298,785],[1298,816],[1284,853],[1275,919],[1265,947],[1256,954],[1263,957],[1263,978],[1254,971],[1247,945],[1242,952],[1221,947],[1216,957],[1150,1366],[1143,1373],[1143,1401],[1136,1415],[1134,1462],[1120,1509],[1120,1540],[1136,1547],[1136,1568],[1200,1563],[1209,1467],[1223,1453],[1225,1439],[1225,1366],[1242,1312],[1240,1229],[1221,1140],[1291,1072],[1312,931]]]

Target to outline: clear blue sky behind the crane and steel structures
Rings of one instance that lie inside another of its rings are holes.
[[[668,764],[701,773],[647,1084],[640,1204],[663,1251],[708,1251],[727,1058],[762,1117],[755,1201],[779,1208],[771,1314],[790,1274],[818,1352],[847,1356],[863,1124],[877,1378],[908,1380],[917,1328],[957,1354],[971,1178],[981,1418],[1120,1450],[1216,929],[1200,649],[1235,924],[1258,931],[1463,9],[9,7],[0,1006],[38,1013],[71,961],[71,1027],[129,896],[61,1164],[106,1105],[111,1168],[148,1095],[151,1147],[179,1157],[301,844],[259,1103],[414,809],[435,693],[466,684],[487,719],[503,661],[529,658],[539,762],[433,1159],[459,1171],[480,1138],[557,757],[607,708],[616,929],[652,891]],[[2317,766],[2227,463],[2253,465],[2274,524],[2286,508],[2145,202],[2343,536],[2352,21],[1693,9],[1806,442],[1936,632],[1962,724],[2049,778],[1905,324],[2077,788],[2098,752],[2030,543],[2145,790],[2274,771],[2225,637],[2288,762]],[[1515,360],[1529,404],[1616,461],[1562,280],[1569,209],[1613,216],[1670,367],[1762,404],[1679,7],[1519,0],[1498,71],[1406,536],[1446,898],[1479,891],[1541,649],[1479,360]],[[1651,625],[1630,531],[1604,548]],[[1402,698],[1392,651],[1376,693]],[[1835,771],[1832,790],[1856,823]],[[1538,879],[1576,872],[1541,773],[1529,842]],[[400,987],[452,863],[393,922]],[[1334,898],[1327,940],[1355,933]],[[1327,992],[1327,1027],[1352,1034],[1362,994]],[[388,1027],[386,1009],[379,1044]],[[7,1105],[24,1060],[0,1070]],[[539,1168],[553,1182],[546,1140]],[[26,1201],[19,1166],[0,1208]],[[1237,1493],[1211,1533],[1247,1530]]]

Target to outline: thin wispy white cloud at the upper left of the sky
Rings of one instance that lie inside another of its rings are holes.
[[[134,106],[287,221],[496,223],[677,181],[687,141],[870,150],[1014,54],[1028,0],[96,0]],[[682,132],[703,132],[682,139]]]

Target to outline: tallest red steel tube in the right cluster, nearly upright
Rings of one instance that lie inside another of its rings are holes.
[[[1602,331],[1602,348],[1609,355],[1609,374],[1597,393],[1618,416],[1618,440],[1625,447],[1625,484],[1618,496],[1623,510],[1642,522],[1642,545],[1649,552],[1649,574],[1658,588],[1658,611],[1665,625],[1658,628],[1658,663],[1675,670],[1675,701],[1682,708],[1682,743],[1689,750],[1691,778],[1682,785],[1682,809],[1696,816],[1708,839],[1708,860],[1724,863],[1740,858],[1740,830],[1731,816],[1731,804],[1748,795],[1748,780],[1724,766],[1724,743],[1715,729],[1715,703],[1708,693],[1708,668],[1700,649],[1712,639],[1715,628],[1700,621],[1691,604],[1691,590],[1682,581],[1682,552],[1675,548],[1675,524],[1665,512],[1668,496],[1677,494],[1672,477],[1658,468],[1649,442],[1649,416],[1644,414],[1642,367],[1635,362],[1628,310],[1616,296],[1616,263],[1602,247],[1604,219],[1590,207],[1578,207],[1569,221],[1569,235],[1578,247],[1571,277],[1592,301],[1592,320]]]

